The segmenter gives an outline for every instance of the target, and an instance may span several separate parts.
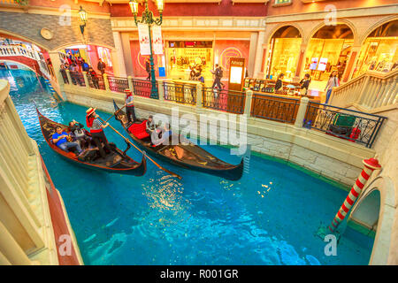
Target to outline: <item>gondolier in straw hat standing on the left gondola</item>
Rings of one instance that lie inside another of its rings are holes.
[[[90,129],[91,136],[93,141],[96,143],[96,146],[99,149],[101,157],[105,158],[106,153],[104,149],[112,152],[111,147],[109,146],[108,140],[106,139],[105,134],[103,133],[103,129],[109,126],[109,123],[103,125],[99,119],[97,119],[98,115],[96,115],[96,108],[88,108],[86,111],[86,123],[88,128]],[[103,146],[102,143],[103,142]]]

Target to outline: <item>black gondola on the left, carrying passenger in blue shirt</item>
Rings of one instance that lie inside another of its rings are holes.
[[[52,134],[56,132],[56,127],[61,126],[66,133],[69,133],[69,127],[54,122],[51,119],[48,119],[37,110],[37,115],[39,117],[40,127],[42,129],[42,135],[44,140],[49,144],[50,148],[57,152],[57,154],[61,155],[67,160],[73,161],[76,164],[80,164],[89,169],[96,169],[96,170],[104,170],[107,172],[115,172],[119,174],[128,174],[134,176],[142,176],[147,171],[147,164],[145,156],[142,156],[141,163],[134,161],[131,157],[127,157],[126,153],[118,149],[114,144],[111,144],[112,152],[108,153],[106,158],[101,159],[99,157],[98,149],[87,149],[87,150],[94,150],[90,154],[90,158],[88,160],[82,160],[81,157],[78,157],[72,151],[66,152],[62,149],[59,149],[57,145],[52,142]],[[88,136],[91,134],[84,130]],[[84,148],[82,148],[84,150]],[[88,151],[86,151],[88,152]]]

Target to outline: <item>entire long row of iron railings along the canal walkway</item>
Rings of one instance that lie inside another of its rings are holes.
[[[65,83],[72,83],[80,87],[85,86],[85,74],[67,70],[65,73]],[[70,76],[67,73],[70,73]],[[129,80],[131,80],[130,85],[133,85],[135,96],[152,98],[152,85],[148,80],[111,77],[103,81],[103,77],[106,78],[105,75],[97,75],[98,81],[96,81],[88,73],[86,80],[89,88],[123,93],[128,88]],[[110,82],[109,87],[106,82]],[[234,114],[250,113],[251,117],[322,131],[339,139],[357,142],[367,148],[372,147],[381,126],[387,119],[386,117],[361,111],[308,102],[308,99],[301,103],[302,100],[299,98],[252,94],[251,90],[248,90],[247,93],[225,89],[218,90],[217,88],[203,88],[201,90],[196,85],[171,81],[164,81],[163,88],[160,90],[162,89],[164,99],[168,102],[189,105],[196,105],[196,102],[201,102],[201,105],[208,109]],[[162,97],[157,97],[156,99],[159,98],[161,99]]]

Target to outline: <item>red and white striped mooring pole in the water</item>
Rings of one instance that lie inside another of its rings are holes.
[[[329,226],[329,230],[332,232],[334,232],[334,230],[336,230],[336,228],[341,224],[341,221],[346,217],[348,211],[356,202],[356,198],[361,194],[366,181],[371,177],[371,172],[381,169],[379,161],[375,158],[364,159],[362,162],[364,163],[364,170],[359,174],[358,179],[356,179],[356,183],[351,187],[351,191],[347,195],[346,200],[341,205],[340,210],[337,211],[332,224]]]

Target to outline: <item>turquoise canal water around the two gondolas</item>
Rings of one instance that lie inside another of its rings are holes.
[[[0,71],[0,77],[10,75]],[[321,222],[329,224],[346,197],[341,188],[255,156],[239,181],[160,161],[183,179],[169,177],[150,161],[143,177],[77,167],[44,142],[33,100],[45,116],[64,124],[84,122],[87,108],[57,103],[32,73],[12,75],[12,100],[64,198],[85,264],[368,264],[370,238],[346,230],[337,256],[325,256],[326,243],[316,236]],[[114,119],[111,125],[124,133]],[[105,134],[126,147],[111,129]],[[239,163],[229,149],[205,148]],[[128,153],[141,159],[134,149]]]

